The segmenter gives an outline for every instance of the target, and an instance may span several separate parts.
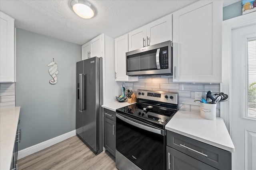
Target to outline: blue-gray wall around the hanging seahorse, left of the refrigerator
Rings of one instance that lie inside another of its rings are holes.
[[[54,58],[58,82],[47,66]],[[75,130],[76,62],[81,45],[16,29],[16,106],[20,109],[19,150]]]

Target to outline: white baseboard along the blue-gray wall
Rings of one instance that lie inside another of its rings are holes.
[[[68,133],[65,133],[65,134],[57,136],[57,137],[54,137],[54,138],[49,139],[47,141],[38,143],[38,144],[33,145],[31,147],[22,149],[22,150],[18,151],[18,160],[21,159],[21,158],[24,158],[24,157],[26,157],[30,154],[36,153],[36,152],[38,152],[42,149],[48,148],[52,145],[55,145],[56,143],[64,141],[64,140],[66,140],[70,137],[73,137],[73,136],[76,136],[76,130],[70,131]]]

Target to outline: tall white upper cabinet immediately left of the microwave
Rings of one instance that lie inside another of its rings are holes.
[[[126,52],[128,52],[128,34],[115,39],[116,81],[138,81],[138,77],[126,76]]]

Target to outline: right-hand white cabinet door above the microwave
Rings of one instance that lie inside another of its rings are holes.
[[[147,46],[172,40],[172,14],[146,25]]]

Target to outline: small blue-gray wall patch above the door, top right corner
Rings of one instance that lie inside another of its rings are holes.
[[[242,15],[242,1],[223,8],[223,21]]]

